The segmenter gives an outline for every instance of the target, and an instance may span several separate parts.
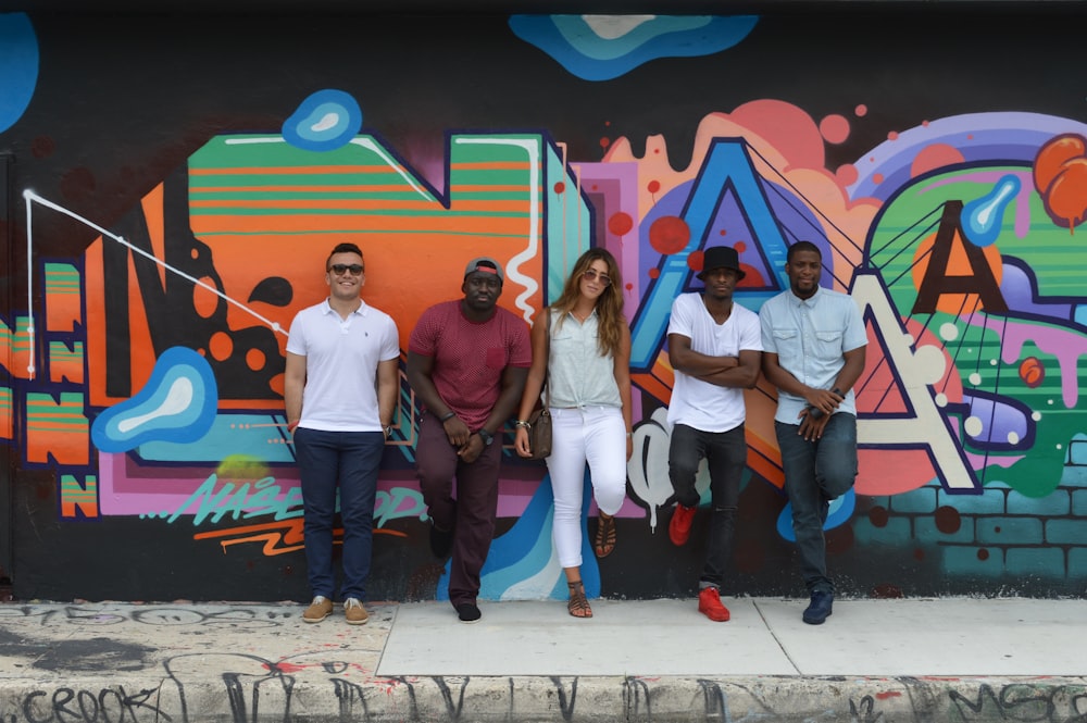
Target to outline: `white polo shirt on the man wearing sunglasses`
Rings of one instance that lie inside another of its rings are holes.
[[[400,358],[400,337],[391,316],[364,301],[340,319],[325,299],[295,316],[287,351],[305,357],[298,426],[323,432],[382,431],[377,365]]]

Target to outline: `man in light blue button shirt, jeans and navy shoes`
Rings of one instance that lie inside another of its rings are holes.
[[[864,371],[867,335],[851,297],[821,288],[823,254],[811,241],[789,248],[789,290],[766,301],[762,372],[777,387],[774,429],[782,450],[785,491],[800,574],[811,596],[803,621],[820,625],[834,606],[826,574],[823,525],[830,501],[857,478],[857,407],[853,384]]]

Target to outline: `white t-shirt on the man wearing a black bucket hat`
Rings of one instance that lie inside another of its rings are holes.
[[[672,302],[669,334],[690,339],[690,348],[709,357],[739,357],[740,351],[762,351],[759,316],[733,302],[733,312],[717,324],[705,310],[701,294],[682,294]],[[744,389],[722,387],[675,372],[669,403],[669,423],[702,432],[728,432],[744,424]]]

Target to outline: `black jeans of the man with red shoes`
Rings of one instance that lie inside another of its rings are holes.
[[[676,502],[684,507],[698,507],[695,475],[703,457],[710,470],[711,512],[710,539],[698,582],[699,589],[720,588],[732,562],[740,478],[747,464],[744,425],[728,432],[702,432],[686,424],[672,428],[669,477]]]

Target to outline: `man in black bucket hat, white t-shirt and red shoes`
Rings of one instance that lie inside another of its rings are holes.
[[[669,404],[669,476],[676,500],[669,537],[685,545],[690,536],[699,502],[695,475],[705,458],[710,534],[698,582],[698,610],[716,622],[729,618],[721,602],[721,585],[732,561],[740,476],[747,464],[744,389],[759,381],[762,358],[759,316],[733,301],[744,276],[736,249],[707,249],[698,274],[704,291],[679,295],[669,322],[669,359],[675,370]]]

